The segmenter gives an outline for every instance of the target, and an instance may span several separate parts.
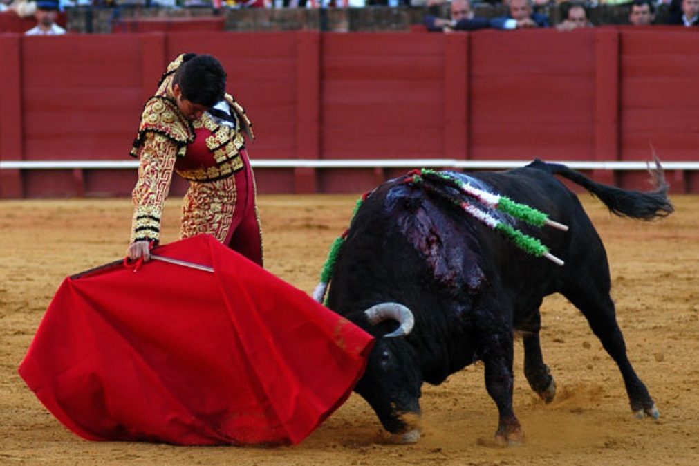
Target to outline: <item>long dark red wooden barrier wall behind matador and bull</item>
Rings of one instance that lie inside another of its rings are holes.
[[[0,35],[0,161],[127,160],[180,52],[217,56],[253,159],[698,161],[699,35],[559,33]],[[410,168],[410,167],[406,167]],[[358,192],[391,168],[257,170],[261,192]],[[592,173],[644,187],[640,172]],[[697,172],[670,174],[699,191]],[[0,197],[127,195],[135,170],[0,170]],[[182,190],[176,184],[175,191]]]

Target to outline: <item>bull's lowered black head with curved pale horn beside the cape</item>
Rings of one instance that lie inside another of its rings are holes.
[[[412,312],[397,303],[381,303],[354,317],[377,337],[366,372],[354,390],[399,441],[417,442],[422,374],[415,348],[404,338],[415,324]],[[387,333],[395,322],[398,328]]]

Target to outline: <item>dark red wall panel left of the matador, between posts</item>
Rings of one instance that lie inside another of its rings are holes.
[[[22,38],[24,159],[122,159],[142,108],[138,36]]]

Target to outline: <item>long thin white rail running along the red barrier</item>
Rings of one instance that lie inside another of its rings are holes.
[[[525,166],[530,160],[456,160],[456,159],[254,159],[253,168],[465,168],[470,170],[506,170]],[[565,163],[576,170],[646,170],[643,161],[550,161]],[[699,170],[697,162],[662,162],[665,170]],[[0,170],[100,170],[135,169],[137,160],[6,160]]]

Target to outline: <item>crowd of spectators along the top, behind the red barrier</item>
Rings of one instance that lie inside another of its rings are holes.
[[[19,17],[34,17],[36,27],[26,34],[57,35],[66,31],[56,24],[59,12],[75,6],[115,6],[139,4],[164,8],[177,6],[211,6],[219,8],[316,8],[361,6],[420,6],[438,9],[442,15],[426,15],[428,31],[475,31],[478,29],[528,29],[556,27],[559,31],[592,27],[589,13],[599,5],[617,5],[628,8],[628,24],[672,24],[692,27],[699,25],[699,0],[0,0],[0,13],[10,11]],[[496,14],[477,15],[479,6],[488,6]],[[557,6],[562,12],[557,24],[550,20],[548,8]],[[663,6],[667,14],[656,21],[657,8]],[[494,8],[491,8],[494,7]],[[498,14],[500,12],[500,14]]]

